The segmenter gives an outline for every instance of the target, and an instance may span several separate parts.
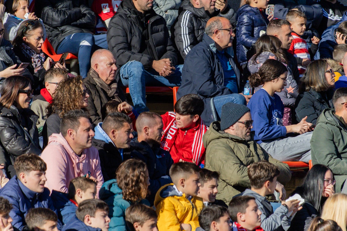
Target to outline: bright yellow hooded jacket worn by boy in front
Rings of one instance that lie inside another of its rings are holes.
[[[198,215],[204,207],[202,198],[197,196],[179,195],[168,184],[161,187],[155,195],[154,206],[158,215],[159,231],[180,231],[180,223],[190,224],[192,231],[199,227]]]

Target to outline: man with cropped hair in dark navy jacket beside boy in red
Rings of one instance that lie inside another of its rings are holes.
[[[174,163],[170,153],[160,148],[164,134],[161,116],[154,112],[143,112],[136,119],[137,140],[130,142],[130,150],[124,152],[124,160],[137,158],[144,161],[148,168],[151,191],[147,198],[153,205],[158,189],[172,183],[169,170]]]

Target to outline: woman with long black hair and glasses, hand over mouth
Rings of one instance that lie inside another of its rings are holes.
[[[315,216],[320,216],[324,202],[335,193],[335,180],[332,171],[325,165],[314,165],[301,186],[291,195],[305,200],[303,208],[299,210],[290,223],[288,231],[306,231]]]

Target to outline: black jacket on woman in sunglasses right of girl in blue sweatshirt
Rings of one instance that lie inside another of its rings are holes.
[[[295,101],[296,119],[298,122],[307,116],[308,123],[316,124],[318,116],[325,108],[333,108],[332,95],[334,90],[317,92],[313,89],[300,94]]]

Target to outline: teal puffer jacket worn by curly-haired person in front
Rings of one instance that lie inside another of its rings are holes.
[[[108,180],[101,186],[99,198],[106,202],[110,208],[109,231],[129,231],[125,223],[125,210],[130,207],[130,202],[123,199],[122,190],[118,187],[116,179]],[[146,199],[140,203],[150,206]]]

